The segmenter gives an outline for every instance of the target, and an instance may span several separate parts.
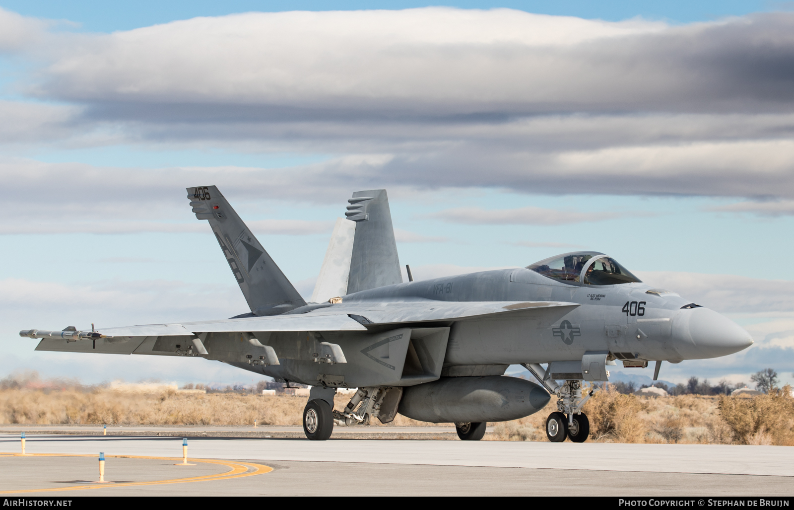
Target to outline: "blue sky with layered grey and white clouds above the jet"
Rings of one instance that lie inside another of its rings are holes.
[[[418,278],[595,249],[753,334],[662,378],[792,381],[783,4],[320,3],[0,0],[0,375],[250,382],[17,336],[248,311],[185,198],[215,184],[304,296],[385,187]]]

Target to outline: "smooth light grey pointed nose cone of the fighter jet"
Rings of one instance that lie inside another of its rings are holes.
[[[676,347],[694,358],[727,356],[753,345],[744,328],[708,308],[681,310],[672,333]]]

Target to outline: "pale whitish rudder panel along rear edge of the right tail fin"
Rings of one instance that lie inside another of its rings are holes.
[[[350,258],[353,256],[353,236],[356,235],[356,223],[345,218],[337,218],[333,226],[331,241],[328,243],[326,258],[322,261],[322,269],[314,284],[311,294],[312,303],[322,303],[333,297],[347,294]]]

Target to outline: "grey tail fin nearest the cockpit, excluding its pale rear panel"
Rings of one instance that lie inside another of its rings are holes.
[[[356,191],[348,202],[356,235],[347,293],[403,283],[386,190]]]

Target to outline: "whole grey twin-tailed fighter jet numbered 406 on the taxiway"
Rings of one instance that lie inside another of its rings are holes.
[[[311,386],[303,411],[309,439],[336,424],[383,423],[399,412],[455,423],[478,440],[487,422],[544,408],[549,441],[584,442],[584,381],[609,380],[616,360],[661,361],[733,354],[753,343],[745,330],[676,292],[652,288],[598,252],[549,257],[526,268],[403,282],[385,190],[357,191],[334,227],[306,303],[217,187],[187,188],[206,219],[250,312],[231,319],[24,330],[37,350],[193,356]],[[501,377],[526,367],[540,384]],[[545,365],[545,366],[543,366]],[[333,408],[337,388],[358,388]]]

